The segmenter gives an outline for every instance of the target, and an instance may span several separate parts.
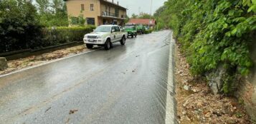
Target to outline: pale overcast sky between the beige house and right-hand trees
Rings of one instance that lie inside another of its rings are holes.
[[[112,1],[112,0],[108,0]],[[127,11],[128,16],[132,14],[139,14],[139,12],[146,12],[150,14],[151,8],[151,0],[114,0],[116,3],[119,1],[120,6],[128,8]],[[152,14],[158,9],[160,6],[163,6],[163,3],[167,0],[152,0]],[[140,8],[140,9],[139,9]]]

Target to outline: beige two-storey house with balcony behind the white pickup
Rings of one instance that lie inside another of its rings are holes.
[[[82,16],[85,24],[100,26],[103,24],[118,24],[123,26],[126,19],[126,9],[117,2],[107,0],[67,0],[69,17]]]

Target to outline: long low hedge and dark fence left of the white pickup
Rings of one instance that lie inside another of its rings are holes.
[[[73,41],[82,41],[83,36],[86,33],[90,33],[95,29],[95,26],[82,26],[82,27],[56,27],[56,28],[44,28],[39,30],[36,41],[24,40],[12,42],[11,37],[9,40],[0,40],[0,53],[9,51],[19,51],[22,49],[37,49],[47,46],[55,46],[62,43],[69,43]],[[19,42],[19,46],[16,47]]]

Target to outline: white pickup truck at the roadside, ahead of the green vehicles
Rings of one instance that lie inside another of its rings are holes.
[[[112,44],[120,42],[125,45],[126,33],[117,25],[98,26],[92,33],[85,34],[83,41],[87,48],[94,45],[104,46],[105,50],[112,48]]]

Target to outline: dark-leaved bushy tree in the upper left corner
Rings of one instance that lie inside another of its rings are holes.
[[[0,52],[36,46],[41,27],[37,10],[26,0],[0,1]]]

